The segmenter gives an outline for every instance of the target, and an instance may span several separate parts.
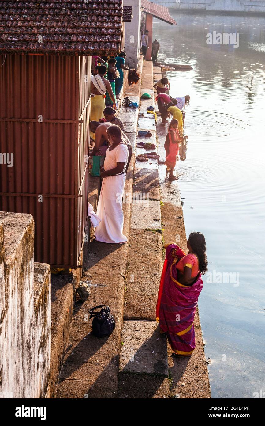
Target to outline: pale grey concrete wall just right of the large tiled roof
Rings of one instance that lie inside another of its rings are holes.
[[[140,57],[141,0],[123,0],[123,5],[133,6],[133,19],[131,22],[125,22],[125,62],[129,68],[137,69]]]

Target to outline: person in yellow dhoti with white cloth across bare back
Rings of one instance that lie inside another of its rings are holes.
[[[103,117],[106,91],[108,91],[108,95],[113,102],[113,107],[116,109],[116,99],[111,88],[111,83],[104,78],[106,72],[107,68],[104,65],[100,65],[97,69],[97,74],[91,77],[91,121],[99,121]]]

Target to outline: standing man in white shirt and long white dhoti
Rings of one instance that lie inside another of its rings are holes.
[[[123,192],[125,168],[128,161],[128,147],[119,126],[111,125],[107,130],[111,144],[106,152],[97,216],[101,222],[95,229],[97,241],[122,244],[127,241],[123,235]]]

